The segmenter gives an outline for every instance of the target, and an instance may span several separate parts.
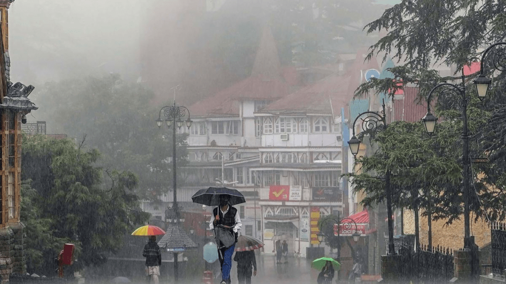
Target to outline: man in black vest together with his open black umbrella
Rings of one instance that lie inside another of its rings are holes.
[[[242,227],[241,218],[233,205],[245,203],[244,196],[237,190],[227,187],[209,187],[198,191],[192,201],[207,206],[218,205],[213,209],[209,229],[215,231],[218,259],[222,269],[222,284],[230,284],[232,255],[237,243],[237,231]]]

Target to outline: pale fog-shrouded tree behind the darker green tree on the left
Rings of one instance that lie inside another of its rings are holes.
[[[172,190],[172,129],[158,128],[161,107],[149,105],[153,94],[141,84],[118,75],[47,83],[38,93],[39,104],[51,113],[49,126],[97,149],[97,161],[107,169],[131,171],[139,179],[136,193],[154,198]],[[52,130],[52,131],[55,131]],[[54,133],[54,132],[53,132]],[[177,135],[177,162],[187,162],[186,134]],[[86,138],[86,139],[85,139]]]

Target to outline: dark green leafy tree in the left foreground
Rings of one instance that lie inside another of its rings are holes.
[[[110,170],[105,187],[99,157],[96,149],[84,151],[70,139],[23,139],[21,220],[30,228],[29,270],[54,271],[66,242],[76,245],[76,268],[100,265],[121,247],[123,234],[147,220],[138,209],[135,175]]]

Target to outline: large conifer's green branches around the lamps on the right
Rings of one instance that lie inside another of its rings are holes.
[[[483,48],[504,41],[503,1],[403,0],[387,9],[382,17],[366,25],[368,33],[386,31],[387,34],[370,46],[367,60],[383,54],[398,60],[399,66],[390,68],[390,78],[374,79],[363,83],[355,92],[363,97],[374,91],[393,97],[396,90],[407,84],[420,87],[418,100],[426,104],[429,91],[441,82],[461,77],[440,77],[435,64],[452,65],[460,75],[462,67],[480,61]],[[480,102],[470,83],[478,74],[463,76],[470,134],[470,157],[489,157],[488,164],[472,164],[470,209],[476,219],[504,219],[506,196],[504,186],[504,141],[506,127],[503,120],[506,109],[505,72],[492,72],[497,63],[499,48],[490,50],[484,59],[483,73],[492,78],[488,97]],[[494,62],[495,61],[495,62]],[[401,84],[402,83],[402,84]],[[458,92],[453,94],[456,105],[461,104]],[[393,123],[384,133],[371,140],[379,151],[359,159],[362,174],[351,174],[359,188],[370,196],[365,204],[382,202],[386,169],[392,172],[394,204],[410,208],[416,205],[432,213],[434,219],[445,219],[449,224],[462,212],[462,114],[439,100],[439,92],[432,97],[433,113],[440,121],[431,139],[422,139],[422,130],[408,131],[404,126],[398,137],[391,133]],[[413,135],[414,134],[414,135]],[[390,140],[389,140],[390,139]],[[420,140],[420,141],[417,141]],[[409,141],[409,143],[404,143]],[[415,155],[419,151],[420,155]],[[399,166],[397,166],[399,165]],[[404,168],[403,168],[404,167]],[[484,173],[478,179],[478,173]],[[427,212],[426,212],[427,214]]]

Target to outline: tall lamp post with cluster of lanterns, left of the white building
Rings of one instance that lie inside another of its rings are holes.
[[[176,92],[176,90],[174,90]],[[174,105],[172,106],[165,106],[160,109],[160,113],[158,114],[158,119],[156,120],[156,125],[158,127],[161,127],[163,124],[162,120],[162,114],[165,117],[165,124],[168,128],[171,128],[172,125],[172,172],[173,172],[173,194],[174,194],[174,201],[173,201],[173,210],[175,214],[175,220],[176,225],[179,225],[179,222],[181,221],[181,215],[180,215],[180,207],[178,206],[178,200],[177,200],[177,191],[176,191],[176,126],[178,128],[181,128],[183,126],[183,122],[186,123],[186,126],[190,128],[192,124],[192,120],[190,119],[190,111],[186,107],[176,106],[176,100],[174,100]],[[183,121],[188,117],[186,120]],[[178,281],[178,253],[174,252],[174,281]]]

